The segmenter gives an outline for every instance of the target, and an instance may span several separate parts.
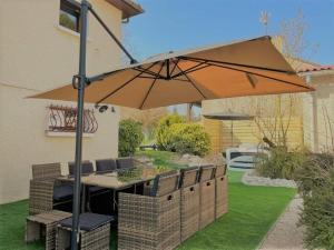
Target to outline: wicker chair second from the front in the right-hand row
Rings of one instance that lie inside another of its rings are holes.
[[[198,167],[180,171],[180,239],[185,241],[199,229]]]

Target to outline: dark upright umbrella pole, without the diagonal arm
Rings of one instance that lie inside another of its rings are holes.
[[[73,87],[78,89],[77,101],[77,128],[76,128],[76,167],[75,167],[75,191],[72,207],[72,231],[71,250],[78,249],[79,214],[80,214],[80,189],[81,189],[81,156],[82,156],[82,128],[84,128],[84,100],[86,87],[86,41],[87,41],[87,12],[89,3],[81,0],[80,10],[80,52],[79,52],[79,74],[73,77]]]

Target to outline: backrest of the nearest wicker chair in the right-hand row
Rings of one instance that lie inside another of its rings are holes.
[[[161,197],[178,189],[179,173],[176,170],[156,176],[150,196]]]

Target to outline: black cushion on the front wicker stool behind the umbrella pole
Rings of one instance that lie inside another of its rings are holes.
[[[81,213],[79,217],[79,227],[84,231],[91,231],[112,221],[115,221],[115,218],[112,216],[85,212]],[[68,219],[60,221],[60,224],[66,228],[71,228],[72,218],[70,217]]]

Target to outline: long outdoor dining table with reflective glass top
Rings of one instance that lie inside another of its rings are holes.
[[[126,174],[120,174],[126,173]],[[156,171],[151,168],[135,168],[135,169],[125,169],[125,170],[116,170],[107,173],[90,173],[87,176],[82,176],[81,184],[82,184],[82,193],[81,193],[81,211],[85,212],[85,208],[90,210],[89,200],[87,201],[87,194],[89,187],[99,187],[105,189],[112,190],[112,209],[114,211],[117,208],[117,199],[116,192],[126,190],[128,188],[134,187],[134,192],[136,193],[137,187],[139,184],[145,184],[156,177]],[[70,181],[73,182],[75,178],[72,176],[63,176],[58,178],[60,181]]]

